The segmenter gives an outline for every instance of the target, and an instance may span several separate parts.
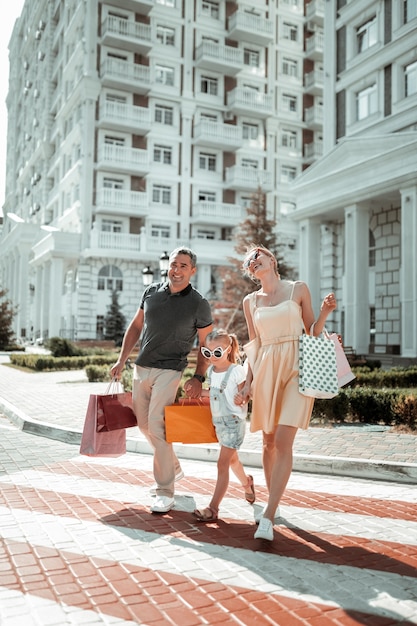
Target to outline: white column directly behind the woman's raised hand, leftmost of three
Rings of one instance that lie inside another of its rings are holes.
[[[300,280],[307,283],[311,292],[313,310],[319,314],[322,296],[320,290],[320,222],[307,219],[300,224]]]

